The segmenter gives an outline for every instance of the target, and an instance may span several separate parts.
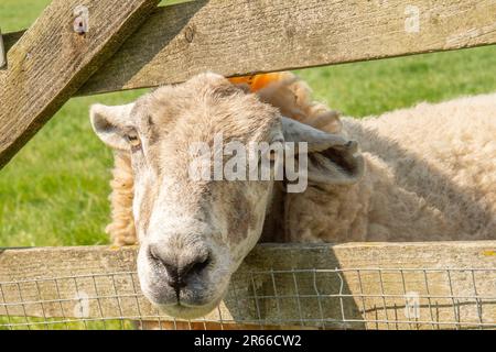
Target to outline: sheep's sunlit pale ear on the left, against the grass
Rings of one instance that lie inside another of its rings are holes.
[[[123,106],[93,105],[89,109],[91,127],[98,138],[108,146],[129,151],[129,143],[123,133],[125,127],[129,124],[133,102]]]

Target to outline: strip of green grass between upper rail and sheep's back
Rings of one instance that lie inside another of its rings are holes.
[[[496,90],[496,46],[299,70],[320,100],[365,117]]]

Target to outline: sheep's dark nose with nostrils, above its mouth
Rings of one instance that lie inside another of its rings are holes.
[[[153,246],[150,248],[151,257],[159,262],[166,272],[166,283],[175,289],[176,294],[187,285],[191,277],[200,275],[209,264],[211,255],[207,250],[195,251],[194,254],[176,253],[175,255],[159,254]]]

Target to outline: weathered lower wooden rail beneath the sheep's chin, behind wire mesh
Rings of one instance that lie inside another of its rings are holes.
[[[89,318],[171,321],[140,294],[134,271],[134,248],[6,250],[0,316],[77,317],[83,294]],[[406,316],[412,299],[406,294],[418,296],[412,309],[419,323]],[[496,241],[261,244],[235,274],[219,309],[206,317],[220,320],[407,329],[454,328],[459,321],[496,328]]]

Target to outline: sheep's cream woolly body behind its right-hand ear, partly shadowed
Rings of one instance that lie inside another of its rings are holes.
[[[496,95],[342,122],[367,172],[288,195],[287,241],[496,238]]]

